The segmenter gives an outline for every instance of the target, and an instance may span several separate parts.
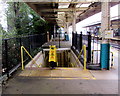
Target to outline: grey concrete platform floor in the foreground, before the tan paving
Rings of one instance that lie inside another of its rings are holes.
[[[21,77],[3,86],[3,94],[118,94],[118,80]]]

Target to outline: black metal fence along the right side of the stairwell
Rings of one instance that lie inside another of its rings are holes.
[[[79,52],[82,49],[82,46],[86,45],[87,47],[87,63],[91,62],[91,35],[88,33],[88,35],[83,35],[82,32],[80,34],[72,33],[72,48],[76,55],[79,54]],[[83,56],[81,56],[80,61],[83,63]]]

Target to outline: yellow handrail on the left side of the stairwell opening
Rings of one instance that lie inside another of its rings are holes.
[[[32,61],[36,64],[37,67],[40,67],[36,61],[32,58],[32,56],[30,55],[30,53],[25,49],[24,46],[21,46],[21,63],[22,63],[22,70],[25,69],[24,67],[24,59],[23,59],[23,50],[27,53],[27,55],[32,59]]]

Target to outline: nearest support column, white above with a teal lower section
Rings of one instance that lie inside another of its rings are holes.
[[[102,2],[100,65],[102,69],[109,70],[110,44],[108,39],[105,39],[107,30],[110,30],[110,3]]]

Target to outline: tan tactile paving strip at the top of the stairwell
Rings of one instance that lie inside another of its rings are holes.
[[[81,70],[78,68],[58,68],[55,70],[50,69],[26,69],[22,71],[19,76],[28,77],[52,77],[52,78],[81,78],[81,79],[93,79],[93,75],[89,70]]]

